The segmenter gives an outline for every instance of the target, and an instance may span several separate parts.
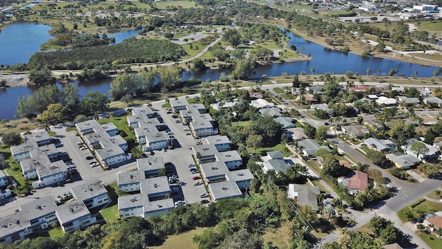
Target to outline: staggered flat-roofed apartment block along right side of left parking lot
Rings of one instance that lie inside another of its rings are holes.
[[[118,129],[113,123],[99,124],[97,120],[86,120],[75,124],[85,145],[95,150],[95,156],[104,167],[127,162],[132,159],[126,154],[126,140],[118,135]]]

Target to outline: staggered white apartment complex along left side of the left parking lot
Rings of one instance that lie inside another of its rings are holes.
[[[59,160],[61,152],[50,143],[47,131],[37,130],[25,135],[25,142],[12,146],[11,152],[15,162],[20,162],[25,180],[35,179],[32,187],[41,188],[66,180],[68,169],[63,160]]]

